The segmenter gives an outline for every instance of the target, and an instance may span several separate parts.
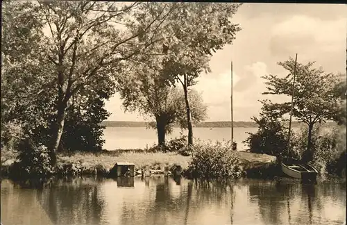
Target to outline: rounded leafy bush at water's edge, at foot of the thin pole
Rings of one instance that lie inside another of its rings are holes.
[[[230,142],[194,145],[189,171],[201,178],[237,178],[242,175],[241,162]]]

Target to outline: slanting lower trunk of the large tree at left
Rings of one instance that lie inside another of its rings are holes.
[[[56,165],[56,152],[60,144],[60,138],[62,137],[62,131],[64,131],[65,111],[67,104],[63,101],[58,102],[58,113],[56,120],[56,128],[53,133],[52,145],[50,149],[51,164]]]

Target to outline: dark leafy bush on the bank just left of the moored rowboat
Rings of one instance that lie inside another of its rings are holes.
[[[248,133],[248,138],[244,143],[248,144],[249,150],[252,153],[265,153],[271,156],[282,158],[288,156],[288,131],[283,122],[280,120],[280,115],[273,111],[273,105],[264,101],[260,118],[251,118],[257,125],[257,133]],[[290,156],[293,152],[289,151]]]

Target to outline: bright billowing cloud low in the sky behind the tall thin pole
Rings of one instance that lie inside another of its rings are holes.
[[[262,99],[261,93],[265,85],[261,76],[268,74],[267,66],[263,62],[246,65],[244,74],[233,76],[233,110],[234,120],[249,120],[250,117],[258,115]],[[201,76],[199,83],[194,89],[202,92],[204,102],[208,105],[210,121],[230,120],[231,110],[231,74],[230,71],[215,76]]]

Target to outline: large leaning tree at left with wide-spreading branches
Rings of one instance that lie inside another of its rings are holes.
[[[35,69],[45,70],[40,74],[53,74],[46,82],[56,89],[56,99],[53,98],[56,103],[55,126],[49,144],[55,164],[71,97],[80,90],[93,88],[100,81],[117,76],[117,68],[122,67],[125,60],[160,41],[155,34],[167,15],[162,10],[139,24],[134,18],[145,15],[139,10],[141,3],[37,1],[17,4],[26,6],[23,15],[39,17],[47,31],[33,42],[38,46],[36,50],[40,58]],[[42,33],[40,27],[38,30]],[[138,37],[144,33],[151,38],[139,41]],[[32,71],[31,74],[37,76],[38,73]],[[40,93],[47,94],[46,87],[41,88]]]

